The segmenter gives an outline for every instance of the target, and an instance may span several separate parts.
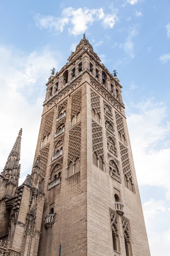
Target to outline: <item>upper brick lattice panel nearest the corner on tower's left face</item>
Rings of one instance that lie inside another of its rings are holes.
[[[71,120],[82,111],[82,89],[71,96]]]

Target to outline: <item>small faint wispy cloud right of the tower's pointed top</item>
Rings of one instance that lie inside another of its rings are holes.
[[[131,28],[124,44],[119,44],[120,48],[123,48],[125,52],[130,55],[130,58],[134,58],[134,43],[133,38],[138,35],[136,28]]]

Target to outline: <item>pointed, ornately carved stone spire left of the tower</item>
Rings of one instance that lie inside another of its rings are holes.
[[[20,176],[20,150],[21,150],[21,135],[22,128],[20,129],[14,146],[8,156],[6,165],[1,173],[6,179],[15,179],[18,182]]]

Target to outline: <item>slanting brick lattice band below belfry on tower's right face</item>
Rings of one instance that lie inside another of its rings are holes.
[[[113,96],[111,96],[110,93],[108,93],[101,84],[98,84],[94,79],[90,78],[91,80],[91,85],[106,99],[108,102],[111,103],[111,105],[114,108],[117,108],[120,112],[122,111],[122,106],[119,104],[116,99],[114,99]]]

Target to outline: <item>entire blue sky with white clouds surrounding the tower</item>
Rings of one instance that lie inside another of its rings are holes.
[[[168,256],[170,0],[0,0],[0,24],[0,168],[22,127],[21,180],[31,172],[50,70],[86,29],[123,86],[151,255]]]

